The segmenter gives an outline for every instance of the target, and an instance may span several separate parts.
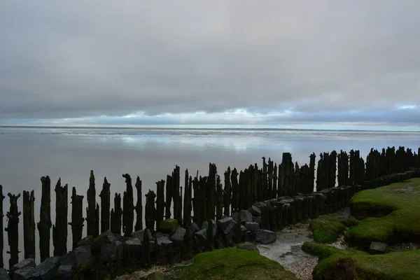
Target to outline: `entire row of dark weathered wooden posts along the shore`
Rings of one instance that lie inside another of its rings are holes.
[[[338,186],[354,186],[364,181],[379,178],[387,174],[404,172],[409,167],[420,167],[420,148],[418,153],[404,147],[398,149],[384,148],[381,153],[371,150],[366,163],[360,158],[359,151],[351,150],[337,153],[321,153],[316,170],[316,190],[325,190]],[[338,160],[338,162],[337,162]],[[89,188],[87,190],[86,217],[83,217],[83,195],[76,193],[73,187],[71,194],[71,222],[68,223],[68,185],[62,186],[61,180],[55,185],[55,224],[52,225],[50,209],[49,176],[41,178],[42,195],[40,220],[36,224],[39,232],[39,253],[41,261],[50,257],[50,233],[52,228],[52,243],[54,255],[64,255],[67,252],[67,224],[71,225],[73,248],[82,239],[83,226],[86,221],[87,235],[98,236],[101,232],[111,230],[115,234],[130,236],[134,231],[143,228],[143,217],[149,230],[159,230],[160,223],[165,218],[175,218],[180,225],[188,226],[192,222],[201,225],[204,221],[219,219],[223,215],[230,216],[231,211],[248,209],[254,202],[269,200],[276,197],[293,196],[299,193],[308,194],[314,191],[316,155],[309,156],[309,165],[299,167],[293,164],[290,153],[283,153],[282,162],[276,165],[271,159],[266,162],[262,158],[262,168],[250,165],[244,171],[237,172],[230,167],[224,172],[224,187],[216,165],[209,165],[209,175],[193,178],[185,173],[184,187],[180,182],[180,167],[176,166],[172,175],[167,175],[166,181],[156,182],[156,193],[148,190],[143,213],[142,185],[137,176],[134,187],[137,189],[137,204],[134,205],[132,178],[123,174],[126,190],[121,195],[116,193],[113,209],[111,209],[111,184],[104,179],[101,193],[101,207],[97,203],[95,178],[90,172]],[[337,181],[336,181],[337,179]],[[6,232],[10,250],[9,267],[18,263],[18,195],[8,193],[10,209]],[[166,200],[165,200],[166,197]],[[3,216],[3,190],[0,186],[0,217]],[[23,230],[25,258],[35,258],[35,217],[34,190],[23,192]],[[173,202],[173,204],[172,204]],[[136,222],[134,224],[134,211]],[[173,211],[173,213],[171,212]],[[100,218],[99,218],[100,217]],[[0,267],[3,267],[3,219],[0,218]]]

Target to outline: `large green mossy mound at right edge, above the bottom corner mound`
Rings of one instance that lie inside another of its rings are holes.
[[[419,241],[419,202],[419,178],[356,193],[350,202],[351,214],[375,217],[365,218],[347,231],[346,241],[363,249],[368,248],[371,241],[386,244]]]

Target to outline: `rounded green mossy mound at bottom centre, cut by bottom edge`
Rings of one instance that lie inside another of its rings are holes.
[[[182,269],[179,279],[283,279],[295,280],[295,275],[278,262],[257,252],[238,248],[200,253],[193,265]]]

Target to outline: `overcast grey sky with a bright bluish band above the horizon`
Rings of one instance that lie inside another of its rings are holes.
[[[0,1],[0,125],[420,130],[420,1]]]

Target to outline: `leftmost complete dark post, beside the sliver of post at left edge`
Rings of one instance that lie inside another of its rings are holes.
[[[6,253],[10,254],[9,267],[19,262],[19,216],[20,212],[18,210],[18,195],[7,194],[10,197],[10,210],[7,212],[6,216],[8,218],[7,228],[5,229],[8,235],[8,244],[10,246],[10,251]]]

